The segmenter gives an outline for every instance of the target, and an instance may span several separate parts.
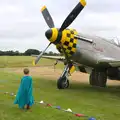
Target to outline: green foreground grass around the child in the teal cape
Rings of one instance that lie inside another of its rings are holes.
[[[24,63],[26,58],[19,59]],[[13,61],[12,58],[11,61]],[[17,63],[15,59],[14,63]],[[0,70],[0,120],[86,120],[40,104],[34,104],[32,112],[19,110],[13,104],[14,97],[3,92],[16,93],[21,77],[20,74]],[[65,109],[71,108],[74,112],[94,116],[97,120],[120,119],[119,86],[92,88],[87,84],[72,82],[69,89],[58,90],[55,80],[37,77],[33,78],[33,86],[36,101],[43,100]]]

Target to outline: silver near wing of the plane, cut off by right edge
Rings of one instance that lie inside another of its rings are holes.
[[[120,60],[106,57],[106,58],[99,60],[98,64],[107,65],[107,66],[111,66],[111,67],[120,67]]]

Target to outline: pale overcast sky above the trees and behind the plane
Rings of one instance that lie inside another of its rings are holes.
[[[120,36],[120,0],[86,0],[87,5],[69,26],[106,38]],[[46,5],[56,27],[79,0],[0,0],[0,50],[43,50],[48,29],[40,9]],[[48,51],[56,52],[54,45]]]

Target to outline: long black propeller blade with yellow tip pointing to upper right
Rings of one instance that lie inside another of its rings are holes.
[[[66,29],[78,16],[78,14],[82,11],[82,9],[85,7],[86,1],[80,0],[80,2],[75,6],[75,8],[72,10],[72,12],[68,15],[68,17],[63,22],[61,28],[59,31],[63,31]]]

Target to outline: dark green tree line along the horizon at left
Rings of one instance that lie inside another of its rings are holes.
[[[0,56],[5,56],[5,55],[7,55],[7,56],[31,56],[31,55],[39,55],[41,52],[42,51],[39,51],[36,49],[28,49],[25,52],[19,52],[19,51],[13,51],[13,50],[9,50],[9,51],[0,50]],[[45,52],[44,55],[58,56],[61,54],[49,51],[49,52]]]

